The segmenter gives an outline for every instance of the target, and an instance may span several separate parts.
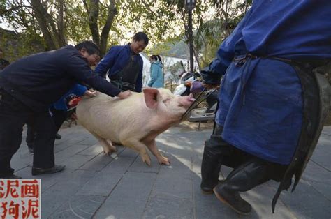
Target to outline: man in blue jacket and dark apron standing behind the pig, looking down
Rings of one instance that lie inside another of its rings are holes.
[[[98,63],[95,73],[105,76],[108,73],[110,82],[122,91],[141,92],[143,61],[140,52],[148,45],[146,33],[138,32],[132,42],[127,45],[117,45]]]

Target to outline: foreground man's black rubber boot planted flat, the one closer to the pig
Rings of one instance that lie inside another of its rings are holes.
[[[205,194],[212,194],[213,188],[220,182],[219,172],[221,170],[224,146],[228,143],[224,142],[221,137],[223,128],[216,125],[214,133],[205,142],[203,150],[203,162],[201,163],[201,191]]]

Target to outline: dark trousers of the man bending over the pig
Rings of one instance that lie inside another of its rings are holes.
[[[54,167],[54,122],[47,110],[33,112],[0,90],[0,177],[13,174],[10,160],[20,148],[25,123],[34,123],[34,167]]]

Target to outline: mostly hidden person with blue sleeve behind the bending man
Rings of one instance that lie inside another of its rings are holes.
[[[75,96],[86,96],[88,98],[92,98],[96,96],[96,91],[87,90],[86,86],[81,84],[75,84],[73,88],[71,88],[64,96],[62,96],[57,102],[53,103],[50,107],[50,114],[54,121],[55,125],[55,139],[61,139],[61,135],[59,135],[59,129],[61,128],[64,121],[68,116],[68,106],[67,106],[67,98],[69,98],[72,94]],[[34,138],[36,137],[36,132],[34,130],[34,126],[31,124],[27,124],[27,146],[30,153],[34,153]]]

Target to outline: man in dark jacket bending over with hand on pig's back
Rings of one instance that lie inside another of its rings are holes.
[[[100,59],[100,50],[91,41],[67,45],[15,61],[0,73],[0,178],[20,178],[13,174],[10,160],[22,142],[22,127],[34,122],[34,163],[32,175],[50,174],[64,169],[54,163],[54,122],[48,112],[52,103],[77,82],[96,90],[127,98],[90,66]]]

